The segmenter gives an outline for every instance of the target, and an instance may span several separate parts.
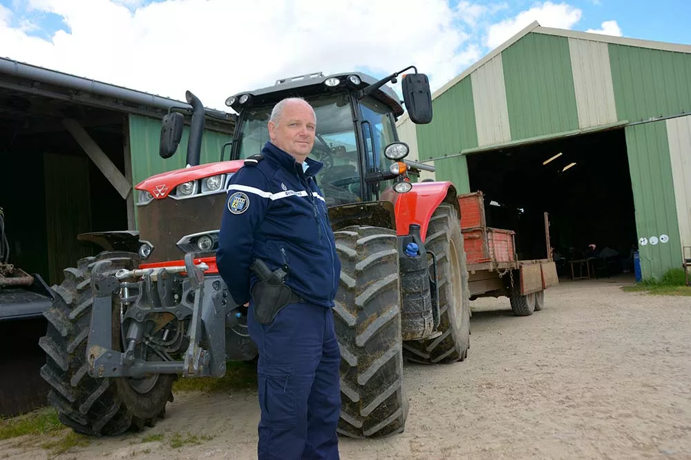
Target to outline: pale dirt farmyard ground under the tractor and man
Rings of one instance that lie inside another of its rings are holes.
[[[341,438],[341,458],[691,459],[691,299],[608,281],[562,282],[531,317],[474,301],[468,360],[406,365],[406,431]],[[178,394],[155,428],[58,458],[252,459],[258,418],[256,393]],[[0,457],[46,458],[21,441]]]

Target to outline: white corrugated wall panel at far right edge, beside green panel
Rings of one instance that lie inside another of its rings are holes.
[[[691,246],[691,116],[668,120],[667,139],[681,244]]]

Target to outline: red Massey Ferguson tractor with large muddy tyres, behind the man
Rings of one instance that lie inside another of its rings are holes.
[[[229,296],[216,268],[218,228],[228,181],[267,141],[272,107],[299,96],[316,112],[311,157],[325,165],[317,181],[342,263],[334,308],[339,432],[381,437],[404,430],[404,357],[463,361],[470,323],[456,190],[449,182],[410,181],[409,174],[433,168],[404,158],[408,146],[395,127],[404,110],[386,83],[410,68],[379,81],[308,74],[231,96],[227,106],[238,116],[226,145],[230,159],[221,152],[221,161],[203,165],[205,110],[187,92],[187,168],[135,187],[139,232],[81,235],[104,252],[64,270],[53,288],[41,374],[64,424],[91,435],[141,429],[163,416],[178,377],[220,377],[227,361],[256,357],[247,308]],[[405,74],[402,88],[410,119],[428,123],[426,75]],[[171,108],[164,117],[164,158],[176,152],[185,112]]]

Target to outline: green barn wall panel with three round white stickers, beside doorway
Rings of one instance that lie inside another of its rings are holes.
[[[627,126],[626,148],[644,278],[681,266],[681,240],[665,121]]]

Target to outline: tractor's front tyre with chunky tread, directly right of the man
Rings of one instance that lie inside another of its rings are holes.
[[[351,226],[334,232],[341,280],[334,323],[341,348],[341,420],[354,438],[402,432],[401,288],[394,230]]]

